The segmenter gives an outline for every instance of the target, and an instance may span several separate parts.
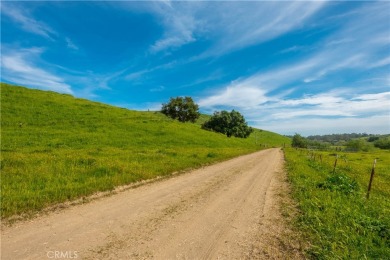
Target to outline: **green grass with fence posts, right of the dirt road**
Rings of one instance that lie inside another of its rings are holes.
[[[390,259],[390,151],[337,154],[333,173],[336,152],[285,149],[300,210],[296,223],[311,243],[308,256]],[[366,199],[374,159],[375,175]]]

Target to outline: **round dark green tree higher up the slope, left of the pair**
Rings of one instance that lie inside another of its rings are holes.
[[[180,122],[195,122],[199,118],[199,106],[191,97],[171,98],[169,103],[163,104],[161,112],[166,116],[177,119]]]

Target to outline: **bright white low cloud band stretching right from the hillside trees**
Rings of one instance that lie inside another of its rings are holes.
[[[365,117],[373,114],[386,115],[390,110],[390,92],[340,96],[343,91],[327,91],[301,98],[280,98],[267,95],[257,88],[228,89],[221,95],[201,99],[199,104],[220,108],[241,108],[249,120],[256,121],[259,111],[262,121],[293,119],[300,117]]]

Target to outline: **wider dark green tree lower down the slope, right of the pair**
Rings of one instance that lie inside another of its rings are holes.
[[[253,129],[247,125],[245,118],[237,111],[215,112],[214,115],[202,125],[203,129],[223,133],[227,137],[235,136],[247,138]]]

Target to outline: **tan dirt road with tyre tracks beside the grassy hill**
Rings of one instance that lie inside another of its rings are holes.
[[[267,257],[282,164],[260,151],[3,227],[1,259]]]

